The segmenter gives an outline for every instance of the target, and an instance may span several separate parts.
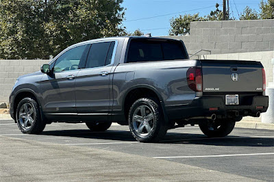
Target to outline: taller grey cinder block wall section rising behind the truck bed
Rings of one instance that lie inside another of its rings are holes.
[[[211,54],[273,51],[274,19],[192,22],[190,35],[164,37],[183,40],[189,54],[200,49],[210,50]]]

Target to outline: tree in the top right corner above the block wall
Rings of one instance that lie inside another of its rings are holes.
[[[260,2],[260,18],[274,19],[274,0]]]

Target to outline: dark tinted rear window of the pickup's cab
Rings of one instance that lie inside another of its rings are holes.
[[[182,42],[176,40],[133,39],[129,44],[127,62],[185,60]]]

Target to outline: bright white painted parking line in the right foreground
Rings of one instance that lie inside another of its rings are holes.
[[[173,157],[153,157],[154,159],[174,159],[174,158],[203,158],[203,157],[232,157],[249,155],[274,155],[274,153],[245,153],[245,154],[227,154],[227,155],[197,155],[197,156],[173,156]]]

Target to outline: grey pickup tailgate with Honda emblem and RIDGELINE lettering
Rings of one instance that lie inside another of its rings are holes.
[[[251,61],[201,60],[203,92],[262,92],[262,64]]]

